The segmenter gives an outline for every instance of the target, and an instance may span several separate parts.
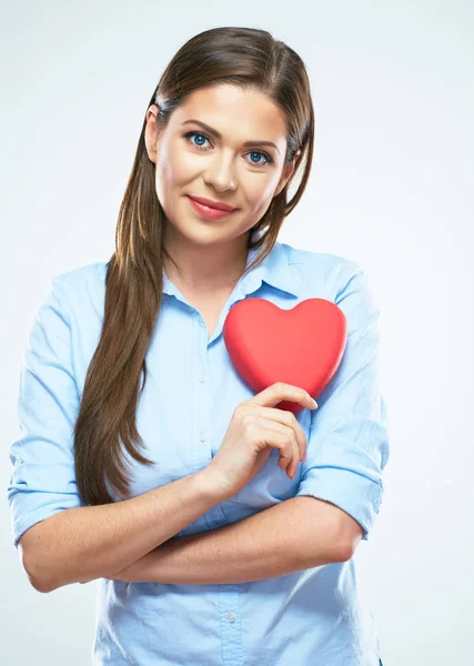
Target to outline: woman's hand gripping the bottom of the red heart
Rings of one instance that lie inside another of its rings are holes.
[[[263,470],[272,448],[280,450],[279,466],[294,478],[299,463],[305,460],[306,437],[293,412],[273,408],[283,400],[311,410],[317,406],[303,389],[279,382],[235,407],[218,453],[203,470],[224,498]]]

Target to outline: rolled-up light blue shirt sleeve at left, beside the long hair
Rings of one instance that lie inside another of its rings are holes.
[[[65,508],[85,506],[75,485],[73,427],[79,394],[72,369],[71,329],[60,278],[37,310],[21,362],[20,434],[9,447],[13,470],[8,502],[14,547],[32,525]]]

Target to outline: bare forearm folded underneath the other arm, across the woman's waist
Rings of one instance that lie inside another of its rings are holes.
[[[333,506],[293,497],[238,523],[172,538],[112,579],[188,585],[248,583],[340,562]]]

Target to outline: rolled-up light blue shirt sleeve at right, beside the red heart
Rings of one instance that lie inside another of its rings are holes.
[[[353,261],[341,270],[334,302],[346,317],[347,341],[334,377],[311,412],[296,496],[339,506],[357,521],[367,541],[382,502],[390,447],[380,387],[381,311]]]

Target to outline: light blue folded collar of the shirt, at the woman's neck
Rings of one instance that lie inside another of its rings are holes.
[[[241,278],[239,289],[243,296],[255,292],[262,285],[262,282],[279,289],[292,296],[299,295],[299,283],[296,276],[291,271],[289,265],[288,245],[276,241],[270,254],[264,261],[252,269],[244,278]],[[246,265],[258,254],[260,248],[249,250]],[[163,292],[177,296],[177,287],[168,278],[163,269]]]

